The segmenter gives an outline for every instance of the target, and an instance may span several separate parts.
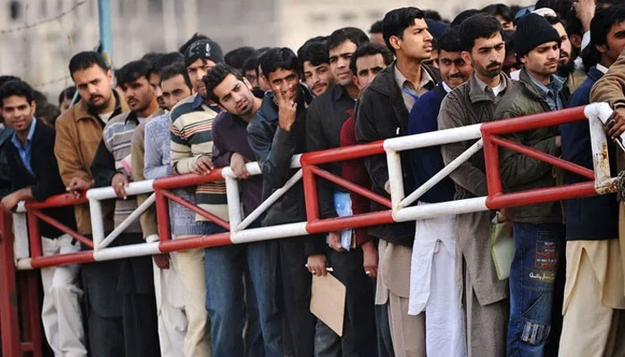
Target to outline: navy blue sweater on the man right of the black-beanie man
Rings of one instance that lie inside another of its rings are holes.
[[[588,78],[571,95],[569,107],[586,105],[590,101],[590,89],[604,74],[592,67]],[[576,121],[560,126],[562,135],[562,158],[575,162],[593,170],[593,157],[590,145],[590,129],[587,120]],[[616,170],[613,143],[608,145],[610,166]],[[587,181],[571,171],[566,171],[566,184]],[[619,204],[616,195],[597,195],[566,201],[564,210],[566,218],[567,240],[600,240],[619,237],[618,217]]]

